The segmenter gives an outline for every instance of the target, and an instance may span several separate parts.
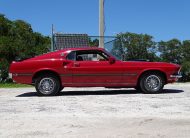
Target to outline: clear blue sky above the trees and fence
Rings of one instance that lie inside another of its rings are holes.
[[[34,31],[98,35],[99,0],[0,0],[0,13]],[[190,39],[190,0],[105,0],[105,35],[147,33],[156,41]]]

